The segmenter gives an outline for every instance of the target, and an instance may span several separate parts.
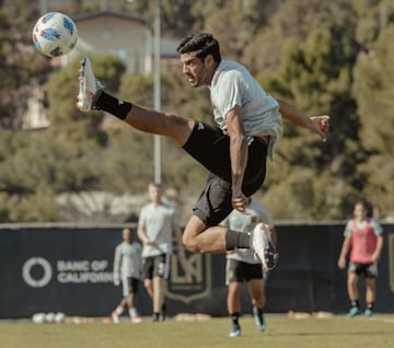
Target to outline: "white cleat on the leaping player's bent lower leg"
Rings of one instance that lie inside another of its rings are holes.
[[[271,270],[277,266],[278,253],[273,244],[268,224],[256,224],[253,230],[252,248],[262,262],[264,270]]]

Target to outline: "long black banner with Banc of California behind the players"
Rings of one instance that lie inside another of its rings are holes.
[[[375,310],[394,312],[394,228],[383,228]],[[267,312],[347,310],[346,271],[336,265],[343,230],[344,224],[277,225],[280,263],[268,278]],[[120,232],[119,227],[1,228],[0,317],[30,317],[37,312],[109,315],[121,298],[112,274]],[[187,254],[184,264],[173,256],[169,314],[227,315],[224,269],[223,254]],[[136,300],[141,315],[150,315],[151,300],[142,283]],[[242,304],[248,312],[246,290]]]

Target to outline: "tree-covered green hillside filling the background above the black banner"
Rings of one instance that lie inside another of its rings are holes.
[[[153,179],[153,136],[76,106],[79,58],[54,68],[32,45],[38,13],[23,0],[0,7],[0,221],[59,221],[61,193],[140,194]],[[332,115],[326,143],[283,121],[285,138],[262,189],[276,219],[341,219],[366,196],[393,213],[394,5],[391,0],[162,0],[162,33],[209,31],[224,58],[247,66],[269,93],[309,115]],[[154,16],[154,1],[112,10]],[[70,13],[90,9],[67,2]],[[151,22],[153,24],[153,22]],[[106,90],[153,106],[153,77],[126,73],[113,56],[90,57]],[[32,90],[46,93],[50,127],[22,131]],[[164,69],[162,109],[212,123],[207,90]],[[11,131],[13,130],[13,131]],[[189,213],[207,172],[162,138],[163,183]],[[190,198],[192,197],[192,198]],[[285,204],[286,202],[286,204]],[[130,216],[135,212],[130,212]]]

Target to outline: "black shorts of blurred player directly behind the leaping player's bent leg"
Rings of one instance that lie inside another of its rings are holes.
[[[247,264],[237,259],[227,259],[225,264],[225,283],[243,282],[252,279],[263,279],[262,264]]]

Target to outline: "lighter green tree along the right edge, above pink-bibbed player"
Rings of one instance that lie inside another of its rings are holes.
[[[360,140],[369,153],[357,169],[363,177],[362,194],[379,205],[383,214],[390,214],[394,206],[394,7],[389,1],[381,7],[385,16],[380,19],[378,39],[358,56],[354,94],[360,116]]]

